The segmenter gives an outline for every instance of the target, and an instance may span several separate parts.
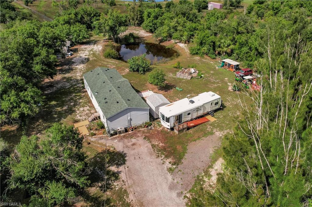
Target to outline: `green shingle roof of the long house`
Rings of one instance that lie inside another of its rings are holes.
[[[126,108],[149,108],[129,81],[115,69],[97,67],[83,76],[105,118]]]

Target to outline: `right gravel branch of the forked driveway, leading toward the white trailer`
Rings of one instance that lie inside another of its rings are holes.
[[[203,172],[210,164],[211,154],[220,146],[220,135],[218,133],[207,136],[188,145],[188,152],[183,163],[173,172],[172,177],[177,180],[183,191],[191,189],[196,176]]]

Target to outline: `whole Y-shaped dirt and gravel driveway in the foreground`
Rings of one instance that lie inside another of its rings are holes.
[[[157,156],[140,131],[129,135],[91,138],[126,153],[126,164],[118,169],[133,206],[185,206],[183,195],[198,174],[210,164],[210,154],[220,144],[220,134],[192,142],[183,163],[171,175],[170,167]]]

